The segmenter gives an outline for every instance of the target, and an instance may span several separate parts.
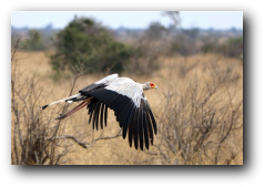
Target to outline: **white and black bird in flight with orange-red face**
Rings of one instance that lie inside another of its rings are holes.
[[[151,89],[159,87],[152,82],[141,84],[132,79],[112,74],[83,87],[79,94],[52,102],[40,110],[61,102],[81,102],[55,120],[65,118],[86,106],[90,115],[89,124],[92,123],[93,129],[94,127],[98,129],[99,125],[101,128],[103,124],[106,126],[108,108],[111,108],[122,128],[123,138],[125,139],[126,134],[129,136],[130,147],[134,143],[135,149],[140,146],[143,150],[144,145],[146,149],[150,143],[153,145],[154,134],[157,132],[154,115],[143,93]]]

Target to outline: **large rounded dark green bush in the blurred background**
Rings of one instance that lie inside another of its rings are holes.
[[[82,62],[86,69],[84,73],[108,69],[120,73],[132,54],[132,49],[115,41],[104,27],[85,18],[74,19],[60,31],[54,46],[51,63],[55,71],[74,72],[75,64]]]

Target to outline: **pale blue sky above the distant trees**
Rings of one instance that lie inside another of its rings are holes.
[[[182,28],[202,29],[243,29],[243,11],[181,11]],[[169,17],[162,11],[11,11],[11,25],[22,28],[64,28],[73,18],[94,18],[103,25],[145,29],[151,22],[159,21],[167,27]]]

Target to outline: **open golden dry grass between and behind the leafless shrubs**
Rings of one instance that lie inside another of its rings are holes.
[[[26,79],[29,74],[35,74],[39,79],[38,86],[42,89],[42,95],[39,103],[44,105],[55,100],[67,97],[69,95],[72,80],[67,79],[60,82],[53,82],[51,79],[52,69],[49,64],[49,54],[43,52],[20,52],[17,56],[18,69],[23,72],[21,80]],[[154,72],[153,75],[134,75],[133,73],[123,73],[120,76],[129,76],[137,82],[154,82],[159,85],[159,90],[147,91],[145,93],[149,98],[150,105],[155,114],[160,116],[161,108],[163,107],[164,95],[169,89],[172,92],[181,92],[183,87],[188,86],[190,81],[193,75],[198,77],[211,76],[207,74],[207,66],[213,63],[218,64],[220,69],[233,69],[235,73],[239,75],[239,79],[233,83],[233,85],[227,85],[227,89],[238,87],[239,93],[237,97],[243,97],[243,64],[241,61],[235,59],[227,59],[216,54],[197,54],[188,58],[176,56],[161,59],[161,70]],[[114,72],[113,72],[114,73]],[[23,77],[24,75],[24,77]],[[94,81],[103,77],[103,73],[82,75],[77,80],[73,93],[77,93],[80,89],[93,83]],[[173,80],[172,80],[173,79]],[[51,117],[55,118],[60,111],[62,111],[64,104],[53,105],[42,111],[41,115],[53,115]],[[75,103],[69,106],[73,107]],[[38,108],[37,108],[38,110]],[[51,113],[52,112],[52,113]],[[94,138],[102,135],[113,136],[115,135],[120,127],[115,122],[114,114],[109,112],[108,127],[103,131],[92,131],[91,125],[88,125],[89,116],[86,110],[81,110],[80,112],[73,114],[69,118],[65,118],[65,133],[80,134],[82,142],[92,142]],[[243,121],[243,120],[242,120]],[[57,123],[57,121],[52,122]],[[160,129],[160,124],[159,124]],[[159,131],[160,134],[160,131]],[[11,132],[12,135],[12,132]],[[237,132],[236,135],[239,139],[238,145],[242,147],[242,152],[236,155],[231,164],[242,165],[243,164],[243,129]],[[154,142],[159,142],[160,135],[157,135]],[[154,147],[150,148],[152,153]],[[135,150],[133,147],[129,146],[128,139],[122,137],[99,141],[90,148],[83,148],[79,145],[72,144],[68,148],[68,154],[63,158],[67,164],[77,165],[133,165],[133,164],[162,164],[157,155],[150,155],[141,150]],[[172,163],[174,164],[174,157],[172,157]],[[205,164],[211,164],[205,162]]]

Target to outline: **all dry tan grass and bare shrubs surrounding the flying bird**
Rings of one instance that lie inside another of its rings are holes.
[[[58,114],[73,106],[59,104],[38,110],[104,74],[80,74],[54,83],[44,53],[17,52],[11,49],[13,165],[243,164],[241,61],[214,54],[163,58],[161,70],[151,76],[121,74],[137,82],[152,81],[160,87],[157,92],[146,92],[159,125],[155,145],[141,152],[122,139],[112,112],[108,127],[93,132],[85,110],[59,122],[54,121]]]

